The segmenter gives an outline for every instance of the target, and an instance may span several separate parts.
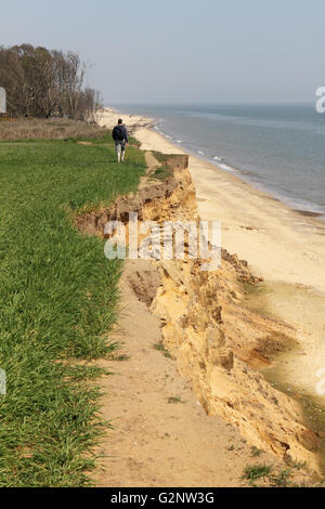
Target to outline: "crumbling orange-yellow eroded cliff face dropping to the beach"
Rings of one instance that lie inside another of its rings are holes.
[[[103,236],[106,221],[127,223],[129,211],[138,211],[141,221],[198,221],[186,160],[174,158],[170,167],[166,181],[79,218],[79,229]],[[131,287],[160,317],[165,347],[208,415],[238,427],[251,445],[317,469],[317,436],[302,425],[299,405],[258,371],[271,362],[270,351],[290,345],[295,331],[247,310],[243,282],[257,279],[246,262],[223,249],[216,272],[202,272],[199,262],[188,258],[158,260]]]

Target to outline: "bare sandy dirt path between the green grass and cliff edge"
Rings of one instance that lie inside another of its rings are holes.
[[[125,344],[125,362],[106,362],[115,371],[103,380],[108,430],[95,473],[98,486],[244,486],[247,464],[278,464],[251,447],[220,417],[207,417],[172,360],[155,349],[159,319],[140,302],[129,282],[150,262],[128,261],[120,279],[121,317],[112,340]]]

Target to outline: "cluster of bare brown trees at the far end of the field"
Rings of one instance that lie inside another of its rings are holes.
[[[13,117],[94,120],[101,99],[86,87],[86,63],[72,51],[0,47],[0,87],[6,91],[6,110]]]

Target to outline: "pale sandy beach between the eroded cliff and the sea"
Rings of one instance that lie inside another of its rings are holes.
[[[152,119],[122,118],[142,149],[186,154],[151,129]],[[106,109],[99,122],[113,127],[116,120],[117,113]],[[307,397],[325,407],[317,390],[318,370],[325,368],[325,224],[204,159],[190,155],[188,169],[200,218],[221,221],[222,247],[263,279],[261,293],[248,296],[247,305],[295,330],[299,347],[278,355],[265,378],[297,401]]]

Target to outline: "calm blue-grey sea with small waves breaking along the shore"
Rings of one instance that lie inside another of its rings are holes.
[[[193,154],[325,214],[325,114],[313,104],[116,105],[156,119],[155,129]]]

